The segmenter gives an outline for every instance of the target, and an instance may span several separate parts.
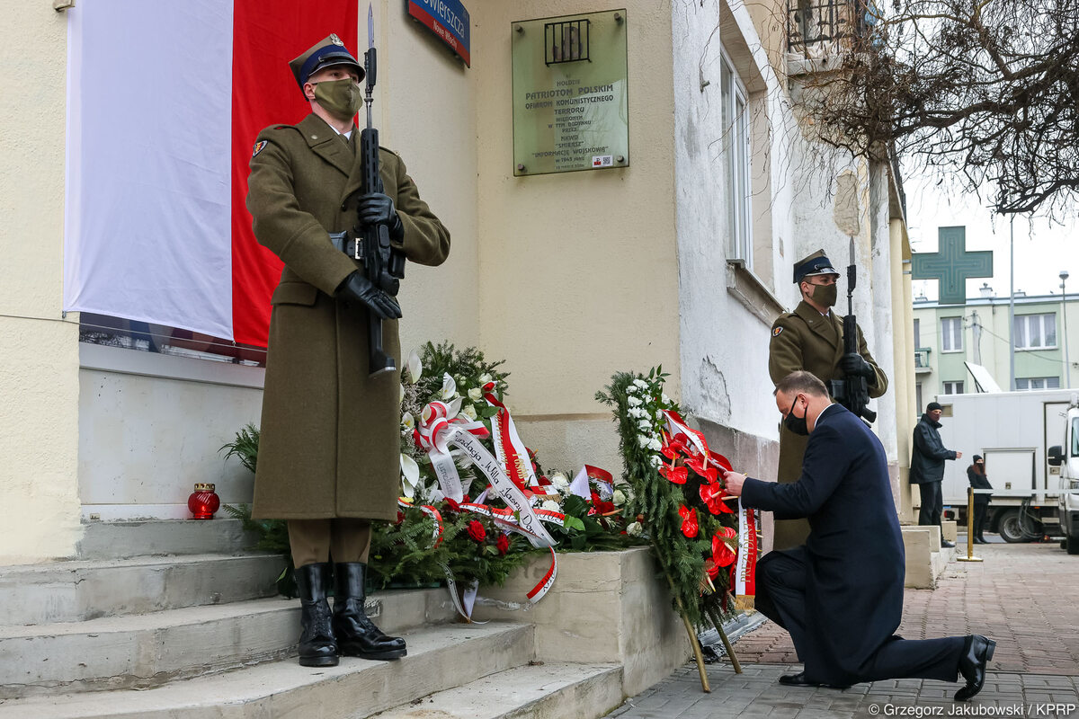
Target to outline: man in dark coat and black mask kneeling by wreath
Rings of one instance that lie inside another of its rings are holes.
[[[756,565],[756,609],[788,632],[805,669],[788,686],[846,688],[861,681],[966,680],[967,701],[985,682],[996,642],[981,635],[896,636],[903,612],[905,559],[884,446],[861,419],[832,403],[824,385],[794,372],[776,386],[783,424],[808,434],[793,484],[726,472],[728,494],[777,516],[808,517],[805,545]]]

